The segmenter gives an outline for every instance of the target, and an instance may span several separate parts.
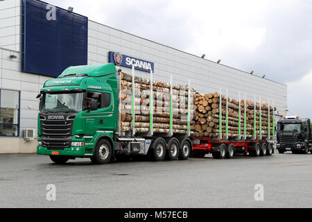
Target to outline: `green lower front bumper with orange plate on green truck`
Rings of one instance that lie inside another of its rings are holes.
[[[63,150],[50,150],[44,146],[37,146],[37,155],[68,155],[72,157],[91,157],[93,148],[71,146]]]

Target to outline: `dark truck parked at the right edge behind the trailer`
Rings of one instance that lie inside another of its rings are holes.
[[[277,150],[279,153],[312,152],[310,119],[286,116],[277,122]]]

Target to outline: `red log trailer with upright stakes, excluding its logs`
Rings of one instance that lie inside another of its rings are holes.
[[[220,104],[219,109],[222,110],[223,103],[221,103],[221,89],[220,89]],[[227,92],[226,92],[227,95]],[[261,97],[259,99],[261,104]],[[232,158],[236,154],[247,155],[248,153],[254,157],[272,155],[274,153],[273,144],[275,144],[275,116],[274,116],[274,101],[273,101],[273,112],[272,112],[272,133],[270,132],[270,105],[268,101],[268,135],[263,135],[261,130],[261,105],[259,105],[259,117],[257,117],[256,97],[254,96],[254,107],[253,107],[253,136],[250,137],[246,133],[246,94],[241,104],[241,93],[239,93],[239,133],[236,138],[229,137],[228,130],[228,118],[229,118],[229,107],[228,107],[228,96],[226,96],[225,104],[225,118],[222,117],[222,112],[219,112],[219,133],[218,138],[211,139],[211,137],[194,137],[193,138],[193,157],[204,157],[206,154],[211,153],[215,159]],[[243,107],[243,113],[241,108]],[[243,123],[241,122],[241,114],[243,114]],[[259,130],[257,131],[256,119],[259,118]],[[225,132],[223,133],[222,119],[225,119]],[[243,130],[242,130],[243,129]],[[243,131],[243,132],[242,132]]]

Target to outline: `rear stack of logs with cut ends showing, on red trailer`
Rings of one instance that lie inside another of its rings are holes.
[[[222,137],[225,138],[226,130],[226,100],[227,107],[227,135],[229,139],[234,139],[239,136],[239,118],[241,118],[241,135],[244,135],[244,103],[241,101],[241,117],[239,117],[239,101],[221,95],[222,110],[220,111],[220,95],[218,92],[214,94],[198,94],[194,96],[195,112],[195,136],[196,137],[210,137],[217,139],[219,136],[219,112],[221,112],[222,123]],[[276,108],[274,108],[274,111]],[[259,138],[259,102],[256,102],[256,137]],[[270,136],[272,136],[272,117],[273,108],[270,106]],[[261,135],[262,138],[268,137],[268,103],[261,102]],[[246,101],[246,137],[254,136],[254,101]]]

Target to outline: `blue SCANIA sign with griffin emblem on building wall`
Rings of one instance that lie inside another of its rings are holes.
[[[116,55],[119,55],[119,58],[120,58],[119,62],[116,61]],[[108,53],[108,60],[109,62],[115,63],[115,65],[119,63],[119,65],[122,67],[132,68],[132,65],[133,65],[135,66],[135,69],[137,70],[154,72],[154,62],[148,62],[146,60],[141,60],[139,58],[134,58],[132,56],[122,55],[114,51],[110,51]]]

